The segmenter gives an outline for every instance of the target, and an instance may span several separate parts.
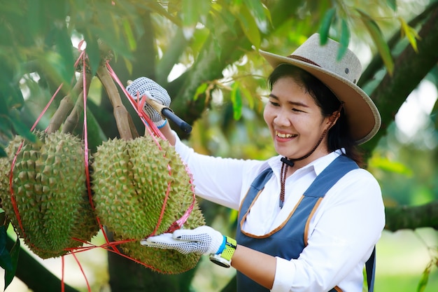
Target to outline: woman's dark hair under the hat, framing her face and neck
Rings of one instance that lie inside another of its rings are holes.
[[[323,82],[307,71],[290,64],[280,64],[272,71],[267,79],[269,90],[272,90],[276,81],[283,77],[293,78],[299,85],[302,85],[306,92],[309,92],[309,95],[313,97],[323,116],[332,116],[341,106],[339,99]],[[353,159],[358,165],[363,163],[363,154],[351,137],[344,108],[341,109],[337,122],[327,133],[327,147],[330,152],[344,148],[348,158]]]

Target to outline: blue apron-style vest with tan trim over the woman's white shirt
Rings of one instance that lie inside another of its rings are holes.
[[[306,227],[309,225],[314,211],[318,208],[320,200],[323,200],[325,193],[327,193],[342,176],[356,168],[358,168],[358,165],[353,160],[344,155],[340,155],[330,163],[323,172],[316,176],[311,186],[304,192],[292,216],[290,216],[289,220],[281,229],[274,230],[274,232],[268,235],[257,236],[256,238],[242,232],[241,224],[246,220],[248,209],[255,200],[255,197],[262,191],[264,185],[272,176],[272,169],[265,169],[255,178],[241,204],[236,230],[237,243],[271,256],[285,258],[286,260],[298,258],[299,254],[307,245],[308,235]],[[288,248],[285,249],[285,246],[288,246]],[[372,272],[372,274],[368,274],[369,272]],[[369,292],[372,292],[372,286],[374,286],[374,251],[372,258],[367,262],[367,276]],[[269,292],[269,289],[264,288],[237,271],[237,291]],[[335,291],[341,291],[341,289],[334,287],[330,290],[330,292]]]

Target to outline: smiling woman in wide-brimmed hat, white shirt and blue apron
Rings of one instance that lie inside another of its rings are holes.
[[[239,222],[236,240],[202,226],[143,245],[211,254],[237,270],[238,291],[362,291],[362,270],[385,219],[379,184],[356,164],[356,146],[379,130],[380,116],[355,85],[358,58],[348,50],[338,62],[339,43],[320,46],[319,39],[314,34],[288,57],[260,52],[274,67],[264,108],[273,158],[200,155],[161,117],[154,120],[188,164],[197,195],[239,210]],[[136,84],[127,90],[144,94]],[[164,89],[148,90],[170,104]]]

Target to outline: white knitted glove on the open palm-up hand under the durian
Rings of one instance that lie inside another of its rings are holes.
[[[180,253],[211,254],[222,253],[225,249],[226,238],[220,232],[209,226],[200,226],[195,229],[180,229],[174,233],[163,233],[147,239],[142,239],[144,246],[159,249],[175,249]]]

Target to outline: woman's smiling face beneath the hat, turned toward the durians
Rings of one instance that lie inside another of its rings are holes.
[[[290,76],[278,78],[272,85],[263,117],[274,140],[276,152],[290,159],[302,158],[318,144],[330,127],[330,118],[323,116],[315,99]],[[297,167],[309,164],[329,153],[327,137],[306,159],[295,162]]]

